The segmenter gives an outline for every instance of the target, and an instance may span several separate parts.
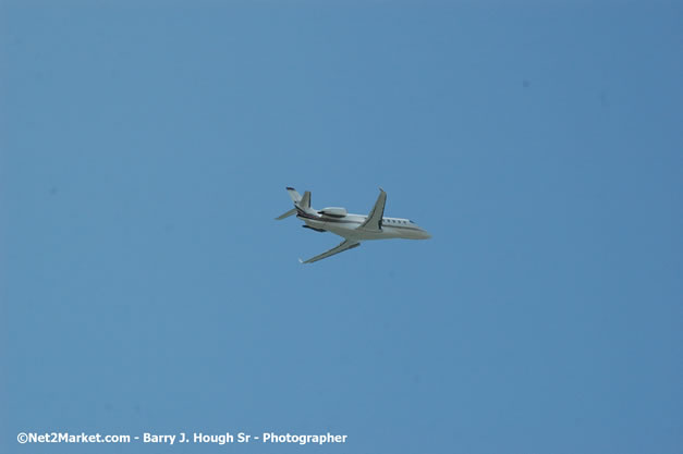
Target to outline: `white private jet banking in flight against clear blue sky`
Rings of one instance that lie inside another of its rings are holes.
[[[312,257],[306,261],[298,259],[302,263],[313,263],[334,254],[353,249],[361,246],[361,242],[366,240],[427,240],[431,237],[426,230],[410,219],[385,218],[387,193],[381,187],[379,188],[379,197],[377,197],[375,207],[373,207],[368,216],[349,213],[345,208],[340,207],[315,210],[310,208],[310,191],[306,191],[303,197],[293,187],[288,187],[286,192],[294,203],[294,208],[280,214],[276,220],[280,221],[296,214],[296,218],[305,222],[302,225],[303,228],[316,232],[332,232],[344,238],[337,247],[326,253]]]

